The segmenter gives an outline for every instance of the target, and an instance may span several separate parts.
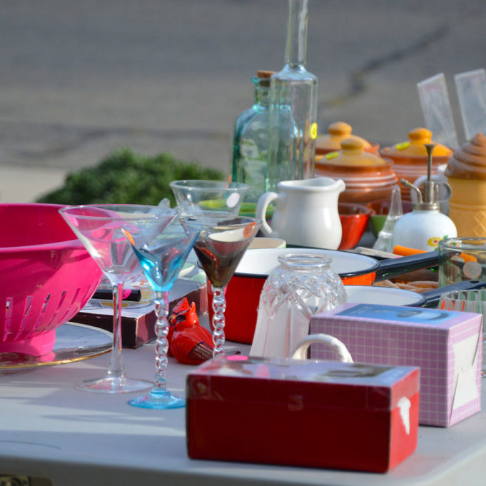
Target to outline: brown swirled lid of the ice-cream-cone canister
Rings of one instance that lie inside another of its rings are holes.
[[[477,133],[456,149],[445,169],[447,177],[457,179],[486,179],[486,136]]]

